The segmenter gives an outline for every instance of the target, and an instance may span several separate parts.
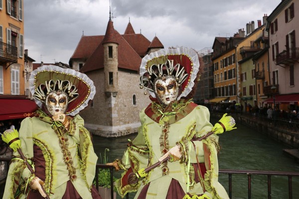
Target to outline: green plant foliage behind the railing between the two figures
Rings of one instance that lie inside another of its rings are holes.
[[[104,151],[104,157],[102,158],[102,154],[100,153],[100,157],[98,160],[98,164],[107,164],[108,163],[108,156],[106,155],[106,151],[109,151],[108,148]],[[110,185],[110,170],[109,169],[99,169],[99,187],[105,187],[105,188],[111,188]],[[113,182],[115,182],[117,179],[113,177]],[[93,182],[94,185],[96,185],[96,179]]]

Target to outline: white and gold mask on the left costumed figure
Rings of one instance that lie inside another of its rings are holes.
[[[67,109],[67,96],[64,93],[50,93],[46,98],[46,107],[51,115],[55,112],[64,113]]]

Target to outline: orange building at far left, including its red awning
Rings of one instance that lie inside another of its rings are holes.
[[[23,0],[0,0],[0,120],[23,118],[36,108],[24,90]]]

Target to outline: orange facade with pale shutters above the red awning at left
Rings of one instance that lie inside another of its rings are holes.
[[[0,95],[24,95],[22,0],[0,1]]]

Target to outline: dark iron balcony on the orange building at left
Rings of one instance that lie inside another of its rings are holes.
[[[0,42],[0,64],[17,63],[17,47]]]

